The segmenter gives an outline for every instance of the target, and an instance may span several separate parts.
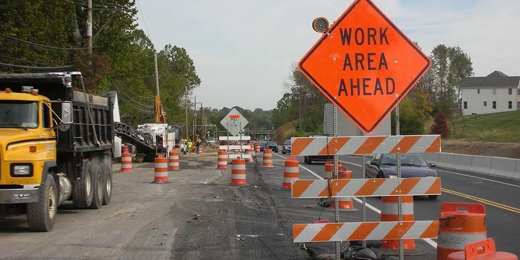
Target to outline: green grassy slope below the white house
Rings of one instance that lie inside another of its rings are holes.
[[[450,129],[449,139],[487,142],[520,142],[520,110],[465,115]]]

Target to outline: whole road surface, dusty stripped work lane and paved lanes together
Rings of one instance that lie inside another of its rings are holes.
[[[340,159],[354,177],[361,176],[355,166],[359,158]],[[51,232],[30,232],[24,216],[1,216],[0,259],[309,259],[293,242],[292,224],[333,221],[334,213],[322,211],[318,199],[292,199],[291,192],[277,190],[283,162],[277,154],[273,168],[261,167],[261,160],[248,163],[250,186],[244,187],[228,186],[230,170],[216,170],[216,155],[209,154],[181,158],[181,171],[170,173],[168,184],[150,184],[152,165],[115,174],[110,205],[100,210],[62,206]],[[323,165],[301,165],[318,175],[323,171]],[[518,183],[439,174],[446,189],[518,207],[518,187],[511,186]],[[301,168],[300,179],[316,178]],[[367,201],[373,206],[367,220],[379,221],[380,201]],[[416,200],[415,219],[437,219],[443,201],[474,202],[443,192],[437,201]],[[355,207],[361,209],[361,204],[355,202]],[[489,237],[499,250],[518,254],[519,214],[491,205],[486,210]],[[342,222],[361,219],[361,212],[340,213]],[[406,259],[434,259],[432,244],[434,240],[418,240],[417,248],[425,254]],[[314,245],[332,253],[333,243]]]

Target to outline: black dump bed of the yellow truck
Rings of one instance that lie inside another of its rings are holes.
[[[79,78],[79,76],[75,76]],[[50,100],[72,101],[73,123],[68,131],[58,131],[57,152],[89,152],[114,149],[114,98],[79,92],[72,88],[69,77],[63,73],[0,74],[0,90],[10,88],[21,92],[22,86],[33,86],[38,94]],[[81,83],[79,83],[81,89]],[[89,120],[87,101],[92,113]],[[52,103],[53,110],[61,111],[61,103]],[[55,118],[57,122],[58,119]],[[95,133],[95,134],[94,134]]]

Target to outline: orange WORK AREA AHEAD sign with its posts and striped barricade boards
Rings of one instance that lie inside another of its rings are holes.
[[[366,223],[366,198],[373,194],[346,194],[343,189],[349,181],[376,182],[389,180],[396,189],[387,190],[380,196],[398,197],[398,222],[371,223],[370,225],[388,226],[391,230],[407,226],[402,232],[384,232],[382,229],[366,234],[371,239],[399,240],[399,259],[404,257],[402,238],[436,237],[438,222],[403,222],[401,196],[414,195],[401,192],[401,185],[409,183],[410,178],[402,179],[400,153],[440,152],[440,136],[400,136],[399,102],[431,67],[431,60],[415,45],[373,2],[355,0],[329,27],[325,18],[313,21],[313,28],[323,33],[313,47],[298,62],[298,69],[312,82],[320,92],[334,104],[333,139],[329,137],[292,138],[291,155],[334,155],[334,179],[321,180],[310,184],[309,180],[296,180],[292,183],[293,198],[323,197],[363,197],[362,223],[340,223],[338,200],[334,200],[335,223],[331,224],[295,224],[293,225],[294,242],[335,241],[336,259],[340,259],[340,241],[362,240],[360,232],[348,233]],[[349,118],[361,131],[362,136],[338,137],[337,109]],[[396,112],[396,136],[367,136],[383,122],[391,111]],[[329,146],[332,149],[329,149]],[[374,153],[395,153],[397,179],[367,179],[366,155]],[[361,154],[362,179],[338,179],[337,155]],[[342,181],[343,186],[338,181]],[[347,183],[344,183],[344,182]],[[440,178],[416,180],[421,185],[414,193],[440,193]],[[332,183],[335,184],[332,185]],[[359,184],[362,185],[362,184]],[[389,184],[388,184],[389,185]],[[313,186],[313,187],[311,187]],[[430,187],[431,186],[431,187]],[[435,186],[435,187],[434,187]],[[337,191],[341,187],[340,191]],[[354,186],[351,186],[351,188]],[[360,186],[361,187],[361,186]],[[348,190],[348,189],[345,189]],[[397,190],[399,193],[394,193]],[[314,196],[311,196],[311,193]],[[403,189],[404,191],[404,189]],[[343,194],[339,194],[344,192]],[[361,192],[361,193],[360,193]],[[348,192],[347,192],[348,193]],[[419,195],[419,194],[417,194]],[[330,227],[326,227],[330,225]],[[415,228],[417,225],[417,228]],[[342,228],[345,226],[345,228]],[[413,227],[412,227],[413,226]],[[390,230],[390,229],[388,229]],[[409,230],[419,231],[410,233]],[[324,235],[327,233],[327,235]],[[403,236],[403,234],[405,234]],[[399,234],[399,236],[395,236]],[[324,239],[328,238],[328,239]],[[320,240],[323,239],[323,240]]]

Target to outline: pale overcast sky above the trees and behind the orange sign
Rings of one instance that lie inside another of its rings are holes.
[[[338,18],[350,0],[138,0],[139,28],[156,49],[185,47],[204,107],[276,107],[291,64],[318,40],[311,21]],[[470,55],[475,76],[520,75],[519,0],[374,0],[430,54],[437,44]]]

